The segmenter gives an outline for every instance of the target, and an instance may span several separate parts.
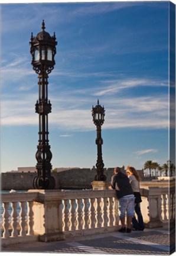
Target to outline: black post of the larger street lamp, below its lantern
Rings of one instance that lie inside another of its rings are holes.
[[[38,75],[38,101],[35,104],[35,112],[38,113],[39,139],[37,146],[37,173],[34,178],[34,188],[52,188],[54,178],[51,177],[51,158],[50,145],[48,140],[48,114],[51,113],[51,103],[48,101],[48,75],[42,73]]]

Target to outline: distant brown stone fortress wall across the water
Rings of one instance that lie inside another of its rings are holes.
[[[52,172],[51,175],[55,178],[57,189],[61,188],[92,188],[92,181],[94,176],[97,174],[96,169],[90,168],[75,168],[68,169],[60,172]],[[111,180],[113,175],[113,168],[107,168],[104,171],[107,179]],[[144,172],[139,171],[141,177]],[[5,172],[1,173],[1,190],[29,190],[32,189],[32,182],[34,177],[37,175],[36,172]]]

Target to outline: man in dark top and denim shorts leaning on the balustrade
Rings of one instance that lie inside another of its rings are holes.
[[[119,199],[120,222],[122,223],[122,228],[119,229],[119,232],[130,233],[132,217],[134,216],[135,196],[129,183],[129,178],[123,174],[119,167],[114,169],[111,187],[116,190]],[[125,227],[125,212],[127,213],[127,229]]]

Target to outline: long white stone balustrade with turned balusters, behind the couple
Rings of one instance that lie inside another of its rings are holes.
[[[142,188],[141,195],[142,215],[148,228],[174,222],[174,187]],[[2,194],[1,201],[2,245],[112,232],[120,224],[114,190],[30,190]]]

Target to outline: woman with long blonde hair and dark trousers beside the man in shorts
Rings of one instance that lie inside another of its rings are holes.
[[[138,220],[136,220],[135,216],[132,218],[133,228],[137,231],[144,231],[144,221],[140,207],[142,201],[139,187],[140,177],[136,169],[130,166],[126,168],[126,174],[128,175],[129,182],[135,195],[135,213],[138,216]]]

